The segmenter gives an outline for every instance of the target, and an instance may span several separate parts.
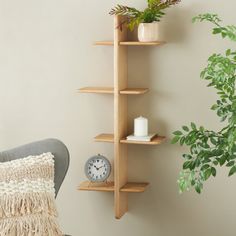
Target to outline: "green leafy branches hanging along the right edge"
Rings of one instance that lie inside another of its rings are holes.
[[[236,26],[222,26],[217,15],[201,14],[193,18],[193,22],[197,21],[212,23],[213,34],[236,41]],[[204,181],[216,176],[218,166],[230,168],[229,176],[236,173],[236,51],[228,49],[225,55],[210,56],[200,77],[217,91],[218,100],[211,109],[224,122],[224,128],[212,131],[192,122],[173,133],[172,143],[189,147],[189,153],[183,154],[185,161],[178,180],[180,192],[194,187],[201,193]]]

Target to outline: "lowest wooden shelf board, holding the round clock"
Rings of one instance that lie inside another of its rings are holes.
[[[126,193],[142,193],[146,190],[149,183],[127,183],[120,191]],[[114,182],[104,182],[104,183],[92,183],[85,181],[80,184],[78,190],[84,191],[101,191],[101,192],[114,192]]]

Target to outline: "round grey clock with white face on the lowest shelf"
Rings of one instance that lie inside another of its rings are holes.
[[[111,173],[111,164],[102,155],[93,156],[85,164],[85,174],[92,182],[106,181]]]

